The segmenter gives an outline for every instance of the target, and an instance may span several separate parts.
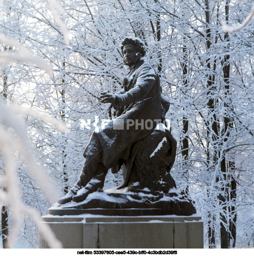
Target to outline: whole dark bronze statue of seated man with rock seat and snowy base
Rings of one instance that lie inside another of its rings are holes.
[[[111,103],[117,117],[99,133],[93,132],[76,185],[57,202],[67,207],[68,202],[83,201],[77,208],[164,208],[171,214],[191,215],[194,206],[176,191],[170,175],[176,141],[161,123],[169,101],[161,96],[159,74],[144,61],[145,47],[139,38],[125,38],[121,49],[129,66],[123,89],[101,93],[101,102]],[[121,167],[124,181],[117,188],[120,192],[109,191],[107,195],[113,199],[102,199],[96,192],[103,192],[107,170],[114,173]],[[89,197],[91,194],[94,196]],[[177,205],[169,198],[178,200]]]

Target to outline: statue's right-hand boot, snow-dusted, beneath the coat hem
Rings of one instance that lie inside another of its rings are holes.
[[[72,197],[72,201],[81,202],[87,198],[87,196],[95,191],[102,191],[107,174],[106,167],[101,163],[96,175],[87,183],[85,187],[77,191],[77,195]]]

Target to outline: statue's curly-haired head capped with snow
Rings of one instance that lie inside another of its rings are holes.
[[[144,43],[138,37],[126,37],[123,39],[121,50],[123,62],[128,66],[132,66],[138,62],[141,57],[145,56]]]

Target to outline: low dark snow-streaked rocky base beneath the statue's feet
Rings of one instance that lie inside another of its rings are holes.
[[[133,184],[134,187],[135,184]],[[139,187],[139,186],[138,186]],[[158,215],[190,216],[196,213],[194,203],[183,192],[172,188],[169,192],[151,192],[147,188],[132,192],[125,189],[108,189],[88,195],[82,202],[69,202],[63,205],[56,203],[49,209],[50,214],[66,214],[68,209],[158,209]],[[82,212],[82,211],[81,211]],[[134,213],[133,213],[134,214]],[[115,215],[115,214],[112,214]]]

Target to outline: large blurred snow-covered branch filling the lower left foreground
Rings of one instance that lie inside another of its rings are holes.
[[[57,191],[55,191],[53,184],[50,183],[49,175],[43,171],[33,154],[33,150],[28,142],[26,127],[24,126],[21,117],[15,113],[17,112],[17,107],[10,108],[5,104],[0,103],[0,108],[0,150],[5,163],[5,177],[0,181],[1,186],[7,188],[7,192],[0,191],[0,201],[9,205],[13,216],[12,232],[9,237],[10,244],[15,242],[16,236],[21,227],[22,216],[27,215],[38,225],[41,234],[44,236],[44,239],[48,242],[51,248],[61,248],[61,243],[56,239],[50,228],[46,224],[40,223],[39,214],[31,207],[24,205],[20,199],[21,196],[18,191],[18,177],[16,174],[17,166],[16,159],[14,157],[15,152],[18,152],[22,156],[24,163],[27,165],[28,173],[37,181],[50,201],[56,201],[59,197],[57,195]],[[42,118],[47,122],[52,121],[50,118],[45,118],[44,114],[39,114],[37,111],[29,112],[27,109],[24,109],[23,111],[19,111],[19,113],[29,113],[30,115],[34,114],[36,117]],[[58,121],[54,121],[54,123],[62,130],[66,130],[63,125],[59,125]],[[9,130],[10,128],[14,132],[11,132],[11,130]]]

